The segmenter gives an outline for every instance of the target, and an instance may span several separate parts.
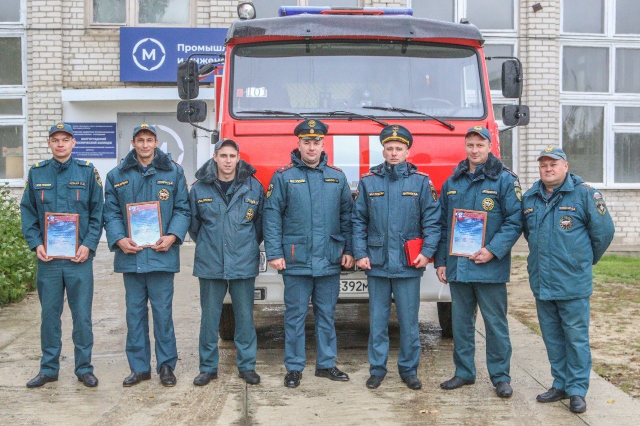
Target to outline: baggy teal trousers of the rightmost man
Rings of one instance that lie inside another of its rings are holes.
[[[589,297],[536,299],[536,308],[554,377],[553,387],[584,398],[591,374]]]

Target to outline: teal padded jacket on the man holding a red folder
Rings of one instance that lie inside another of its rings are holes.
[[[429,258],[440,239],[440,205],[429,176],[410,162],[386,162],[360,178],[353,207],[353,253],[369,258],[367,275],[404,278],[422,276],[410,266],[404,242],[422,238],[420,253]]]

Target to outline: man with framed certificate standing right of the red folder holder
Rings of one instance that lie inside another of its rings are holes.
[[[436,274],[451,283],[453,362],[456,374],[443,389],[476,381],[476,306],[486,328],[486,365],[497,395],[511,397],[511,340],[507,323],[507,287],[511,248],[522,233],[522,189],[518,177],[491,153],[491,135],[481,126],[465,136],[467,159],[442,185],[442,237]],[[453,209],[486,212],[484,246],[469,257],[449,255]]]

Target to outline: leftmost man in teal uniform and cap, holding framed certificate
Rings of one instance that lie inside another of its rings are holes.
[[[76,139],[70,125],[53,125],[49,129],[47,145],[53,158],[31,166],[20,203],[22,234],[38,258],[36,286],[42,306],[40,372],[27,383],[27,387],[38,388],[58,380],[62,350],[60,315],[66,289],[74,320],[72,338],[76,375],[84,386],[92,388],[98,386],[91,365],[91,308],[93,257],[102,234],[102,182],[93,164],[71,157]],[[47,255],[44,246],[45,212],[79,214],[75,258],[60,259]]]

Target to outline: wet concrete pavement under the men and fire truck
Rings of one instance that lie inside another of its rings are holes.
[[[397,322],[390,325],[389,374],[378,390],[368,390],[367,304],[339,305],[338,365],[351,380],[336,383],[314,377],[312,312],[307,319],[307,368],[299,388],[284,388],[284,326],[282,306],[264,306],[256,312],[257,372],[262,383],[247,386],[237,377],[232,342],[220,343],[220,377],[208,386],[191,383],[198,374],[200,303],[198,283],[191,276],[193,245],[182,249],[182,272],[176,275],[173,318],[178,340],[178,384],[163,388],[152,380],[123,388],[129,374],[125,346],[124,286],[114,274],[113,256],[100,244],[94,263],[93,365],[98,388],[79,383],[73,373],[71,319],[63,313],[63,351],[57,382],[29,390],[26,382],[38,372],[40,306],[36,294],[0,310],[0,423],[3,424],[447,424],[486,425],[633,425],[640,423],[640,402],[597,375],[591,375],[588,411],[575,415],[568,400],[540,404],[536,395],[551,383],[541,338],[509,318],[513,358],[509,399],[497,398],[484,363],[484,328],[477,321],[476,384],[444,391],[439,383],[453,373],[452,342],[440,337],[436,307],[420,306],[422,354],[419,377],[423,388],[411,391],[396,369]],[[152,324],[150,325],[152,327]],[[153,338],[153,336],[151,336]],[[155,366],[154,366],[155,367]]]

